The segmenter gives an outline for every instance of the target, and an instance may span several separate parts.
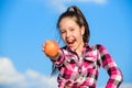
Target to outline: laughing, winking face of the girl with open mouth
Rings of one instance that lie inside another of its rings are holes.
[[[59,31],[64,43],[73,51],[82,47],[85,28],[75,22],[75,18],[64,18],[59,22]]]

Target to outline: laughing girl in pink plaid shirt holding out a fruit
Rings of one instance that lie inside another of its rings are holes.
[[[88,45],[89,26],[77,7],[68,8],[59,16],[57,28],[66,46],[54,57],[48,57],[59,70],[58,88],[96,88],[100,67],[109,75],[106,88],[120,86],[122,74],[107,50],[99,44]]]

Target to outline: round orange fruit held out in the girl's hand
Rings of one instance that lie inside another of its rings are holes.
[[[44,52],[48,57],[55,57],[58,54],[59,45],[54,41],[46,41]]]

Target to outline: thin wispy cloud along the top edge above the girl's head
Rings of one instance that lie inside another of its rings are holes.
[[[64,12],[67,9],[67,4],[75,3],[95,3],[95,4],[106,4],[108,0],[29,0],[35,3],[43,3],[48,6],[56,12]]]

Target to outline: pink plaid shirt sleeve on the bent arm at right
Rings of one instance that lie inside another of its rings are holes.
[[[109,80],[106,88],[119,88],[123,81],[121,70],[118,68],[114,61],[111,58],[108,51],[102,45],[97,45],[100,65],[108,72]]]

